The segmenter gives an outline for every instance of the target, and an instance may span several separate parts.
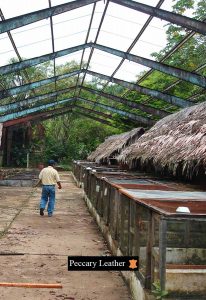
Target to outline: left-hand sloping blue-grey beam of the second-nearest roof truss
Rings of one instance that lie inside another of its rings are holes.
[[[58,57],[62,57],[64,55],[71,54],[73,52],[77,52],[77,51],[89,48],[91,46],[92,46],[92,43],[82,44],[82,45],[67,48],[67,49],[64,49],[64,50],[59,50],[59,51],[48,53],[48,54],[45,54],[45,55],[25,59],[23,61],[16,62],[16,63],[13,63],[13,64],[5,65],[5,66],[0,67],[0,74],[5,75],[5,74],[13,73],[13,72],[16,72],[16,71],[20,71],[20,70],[23,70],[23,69],[28,68],[28,67],[32,67],[32,66],[35,66],[35,65],[38,65],[38,64],[42,64],[46,61],[49,61],[49,60],[52,60],[52,59],[55,59],[55,58],[58,58]]]

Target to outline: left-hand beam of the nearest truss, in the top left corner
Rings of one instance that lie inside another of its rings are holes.
[[[99,0],[78,0],[72,1],[65,4],[60,4],[53,6],[51,8],[45,8],[38,11],[34,11],[29,14],[24,14],[18,17],[10,18],[5,21],[0,22],[0,33],[16,29],[43,19],[47,19],[52,16],[59,15],[61,13],[89,5]]]

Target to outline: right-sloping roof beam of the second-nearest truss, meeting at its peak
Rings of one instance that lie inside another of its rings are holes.
[[[135,63],[141,64],[143,66],[146,66],[146,67],[149,67],[149,68],[152,68],[152,69],[155,69],[155,70],[158,70],[160,72],[164,72],[166,74],[175,76],[179,79],[191,82],[191,83],[199,85],[201,87],[204,87],[204,88],[206,87],[206,77],[204,77],[202,75],[199,75],[199,74],[196,74],[194,72],[188,72],[188,71],[182,70],[180,68],[175,68],[175,67],[166,65],[164,63],[160,63],[160,62],[148,59],[148,58],[133,55],[133,54],[123,52],[123,51],[120,51],[120,50],[117,50],[117,49],[113,49],[113,48],[110,48],[110,47],[106,47],[106,46],[103,46],[103,45],[96,44],[96,45],[94,45],[94,47],[96,49],[101,50],[101,51],[104,51],[104,52],[122,57],[124,59],[129,60],[129,61],[133,61]]]

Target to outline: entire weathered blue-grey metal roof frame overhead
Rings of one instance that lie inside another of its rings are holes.
[[[19,72],[22,70],[25,73],[25,77],[26,77],[27,81],[29,82],[27,84],[17,86],[17,87],[12,87],[7,90],[4,90],[4,89],[0,90],[0,99],[11,97],[11,99],[10,98],[7,99],[8,104],[0,106],[0,113],[4,113],[4,115],[0,116],[0,122],[5,122],[2,120],[5,120],[6,116],[7,116],[7,118],[9,118],[9,117],[16,118],[17,116],[22,117],[22,116],[24,116],[24,114],[31,114],[34,112],[38,112],[39,110],[42,110],[42,109],[48,111],[48,113],[49,113],[51,107],[53,107],[55,105],[64,104],[64,103],[66,103],[65,101],[73,101],[74,102],[73,108],[75,108],[75,107],[78,107],[77,101],[84,101],[87,104],[93,105],[93,109],[97,105],[99,108],[110,111],[112,114],[118,113],[120,115],[126,116],[127,118],[129,118],[131,120],[136,120],[136,121],[138,120],[138,122],[142,122],[142,123],[146,124],[147,126],[151,126],[154,123],[154,121],[152,119],[147,118],[147,117],[142,117],[141,115],[138,115],[138,114],[129,113],[127,111],[121,110],[121,109],[113,107],[111,105],[102,104],[100,102],[101,97],[112,100],[113,102],[116,102],[116,103],[122,103],[122,104],[126,105],[128,107],[128,109],[131,109],[131,108],[138,109],[146,114],[149,114],[149,115],[157,117],[157,118],[162,118],[162,117],[168,115],[169,112],[165,111],[164,109],[154,108],[149,103],[146,103],[151,98],[163,100],[166,103],[173,105],[177,109],[182,108],[182,107],[189,107],[191,105],[196,104],[195,102],[193,102],[193,97],[196,96],[195,94],[192,97],[189,97],[187,99],[182,99],[180,97],[168,94],[166,92],[169,91],[172,87],[176,86],[182,80],[188,81],[188,82],[194,84],[195,86],[200,86],[201,90],[200,90],[200,93],[199,92],[196,93],[197,95],[201,94],[202,91],[204,92],[204,90],[206,88],[206,77],[198,74],[197,72],[202,70],[203,68],[205,68],[206,64],[203,63],[202,66],[199,66],[193,72],[190,72],[187,70],[183,70],[181,68],[170,66],[169,64],[164,63],[164,61],[169,56],[171,56],[173,53],[178,51],[178,49],[181,48],[181,46],[184,45],[192,36],[194,36],[194,34],[196,32],[199,34],[206,34],[206,23],[204,22],[205,20],[199,21],[199,20],[195,20],[195,19],[192,19],[192,18],[189,18],[186,16],[178,15],[173,12],[163,10],[160,7],[163,4],[164,0],[160,0],[157,3],[156,7],[153,7],[150,5],[145,5],[143,3],[131,1],[131,0],[118,0],[118,1],[110,0],[110,1],[106,1],[106,3],[105,3],[104,11],[102,12],[101,20],[100,20],[99,26],[97,28],[94,42],[88,42],[89,33],[91,31],[92,21],[93,21],[95,9],[96,9],[96,4],[99,1],[100,0],[79,0],[79,1],[68,2],[65,4],[56,5],[56,6],[52,7],[51,0],[48,0],[49,7],[46,9],[34,11],[32,13],[20,15],[20,16],[13,17],[13,18],[10,18],[7,20],[4,18],[3,12],[0,11],[0,16],[2,19],[2,21],[0,22],[0,33],[3,33],[3,32],[8,33],[9,39],[10,39],[12,46],[16,52],[16,55],[19,59],[19,62],[17,62],[17,63],[0,67],[0,74],[2,76],[5,76],[6,74]],[[101,32],[102,24],[104,22],[106,14],[107,14],[107,8],[108,8],[110,2],[150,15],[126,51],[120,51],[118,49],[114,49],[114,48],[97,43],[99,34]],[[89,22],[89,26],[87,29],[87,33],[86,33],[85,43],[81,44],[81,45],[76,45],[74,47],[70,47],[67,49],[55,51],[55,37],[54,37],[52,17],[56,16],[58,14],[64,13],[64,12],[68,12],[70,10],[78,9],[78,8],[86,6],[86,5],[92,5],[92,12],[91,12],[91,17],[90,17],[90,22]],[[139,40],[139,38],[141,37],[141,35],[145,31],[145,29],[148,27],[148,25],[151,22],[153,17],[157,17],[157,18],[166,20],[168,22],[177,24],[179,26],[182,26],[183,28],[192,30],[191,32],[186,34],[186,36],[183,38],[183,40],[180,41],[175,47],[173,47],[173,49],[171,49],[160,61],[154,61],[154,60],[151,60],[148,58],[144,58],[144,57],[129,53],[132,50],[132,48],[134,47],[134,45],[136,44],[136,42]],[[37,22],[39,20],[43,20],[45,18],[50,18],[52,53],[48,53],[45,55],[22,60],[22,58],[18,52],[18,49],[16,47],[16,44],[12,38],[11,30],[34,23],[34,22]],[[88,60],[86,62],[86,67],[83,68],[85,50],[88,48],[90,49],[90,53],[89,53]],[[120,63],[115,68],[112,75],[109,76],[106,74],[101,74],[101,73],[89,70],[90,61],[91,61],[91,58],[92,58],[92,55],[93,55],[95,49],[104,51],[106,53],[109,53],[110,55],[115,55],[116,57],[121,58]],[[56,75],[56,59],[59,57],[77,52],[77,51],[82,51],[79,69],[69,72],[69,73]],[[42,79],[42,80],[39,80],[36,82],[30,82],[26,68],[41,64],[46,61],[51,61],[51,60],[53,60],[53,64],[54,64],[54,76],[47,78],[47,79]],[[125,60],[133,61],[135,63],[147,66],[147,67],[151,68],[151,70],[148,71],[144,76],[142,76],[137,81],[136,84],[125,81],[125,80],[121,80],[118,78],[114,78],[114,75],[121,68],[121,66]],[[163,91],[150,89],[148,87],[140,85],[139,83],[142,83],[144,81],[144,79],[147,78],[147,76],[149,76],[153,72],[153,70],[158,70],[160,72],[169,74],[171,76],[175,76],[178,78],[178,80],[171,83]],[[83,77],[81,78],[81,83],[80,83],[79,81],[80,81],[81,74],[83,75]],[[88,87],[87,82],[85,82],[85,78],[87,75],[94,76],[94,77],[100,78],[103,81],[106,81],[106,83],[103,84],[102,90],[94,89],[91,86]],[[72,87],[68,87],[63,90],[58,90],[57,82],[59,80],[63,80],[63,79],[66,79],[66,78],[69,78],[72,76],[77,76],[76,85],[72,86]],[[29,91],[32,91],[35,94],[36,88],[40,88],[40,87],[50,84],[50,83],[55,84],[55,90],[51,91],[50,93],[41,94],[41,95],[38,95],[38,96],[32,97],[32,98],[27,97],[21,101],[15,101],[15,98],[12,99],[12,96],[18,95],[20,93],[28,93]],[[123,96],[120,96],[120,95],[113,95],[111,93],[104,92],[105,87],[109,83],[115,83],[129,91],[131,91],[131,90],[136,91],[137,98],[138,98],[139,93],[143,94],[143,95],[148,95],[150,97],[148,99],[144,100],[144,103],[141,103],[141,102],[134,102],[134,101],[128,100],[127,98],[124,97],[126,95],[126,93],[124,93]],[[59,96],[63,93],[69,93],[71,91],[74,91],[74,94],[71,98],[57,100],[57,96]],[[81,93],[83,91],[87,91],[93,95],[97,95],[96,100],[91,101],[90,99],[84,98],[84,96],[81,95]],[[54,100],[54,98],[56,98],[56,101],[52,102]],[[38,102],[42,101],[42,100],[46,100],[46,101],[50,101],[50,102],[47,104],[44,104],[44,105],[39,105]],[[32,108],[31,107],[29,108],[29,105],[32,105]],[[15,110],[25,108],[25,107],[27,107],[27,109],[24,109],[23,111],[11,113],[11,111],[15,111]],[[86,108],[84,108],[84,109],[86,110]],[[89,112],[87,112],[87,113],[89,113]],[[111,116],[112,116],[112,114],[111,114]],[[105,116],[105,117],[108,117],[108,116]],[[46,118],[46,115],[45,115],[45,118]]]

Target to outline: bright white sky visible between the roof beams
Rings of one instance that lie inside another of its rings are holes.
[[[71,2],[67,0],[51,0],[52,6]],[[94,21],[88,41],[94,41],[106,1],[96,5]],[[139,2],[156,6],[158,0],[140,0]],[[165,0],[162,9],[171,11],[172,0]],[[0,8],[6,19],[49,7],[48,0],[0,0]],[[78,8],[53,17],[55,51],[85,43],[87,29],[93,4]],[[128,9],[115,3],[109,3],[97,43],[126,51],[149,15]],[[165,24],[167,22],[153,18],[131,53],[152,58],[152,52],[158,52],[166,45]],[[22,58],[31,58],[52,52],[50,19],[42,20],[11,31],[13,39]],[[56,64],[76,60],[80,62],[82,51],[67,55],[56,60]],[[87,61],[90,49],[85,51]],[[6,33],[0,35],[0,65],[8,64],[8,60],[16,57]],[[153,59],[153,58],[152,58]],[[95,50],[90,69],[111,75],[121,58]],[[127,81],[135,80],[146,67],[125,61],[115,77]],[[87,77],[89,79],[89,76]]]

